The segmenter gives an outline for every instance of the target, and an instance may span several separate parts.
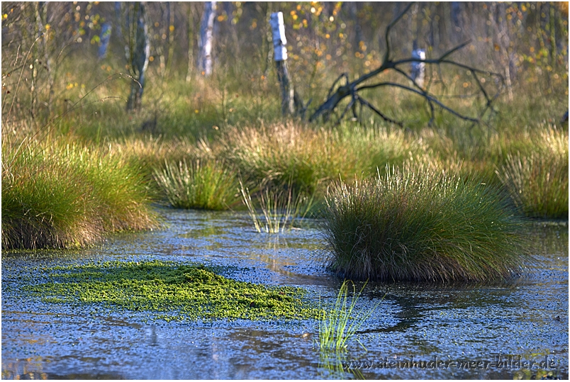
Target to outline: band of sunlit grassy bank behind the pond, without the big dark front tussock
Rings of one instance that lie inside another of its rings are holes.
[[[318,216],[337,179],[350,183],[410,163],[409,171],[428,166],[476,177],[508,193],[522,215],[567,218],[567,129],[538,125],[521,134],[494,133],[468,156],[458,154],[464,142],[442,131],[372,125],[274,123],[228,127],[213,140],[125,137],[105,145],[73,135],[6,135],[2,247],[77,247],[105,232],[156,228],[152,202],[245,209],[240,181],[254,200],[268,189],[311,200]]]

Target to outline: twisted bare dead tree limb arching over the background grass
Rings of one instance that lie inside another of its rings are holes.
[[[420,60],[420,61],[425,63],[426,65],[436,65],[437,67],[441,67],[442,65],[449,65],[452,67],[457,67],[459,69],[468,70],[474,77],[474,82],[476,83],[476,86],[478,89],[477,90],[478,94],[481,94],[481,96],[483,96],[485,101],[486,101],[484,108],[481,111],[479,111],[476,114],[476,116],[466,116],[463,113],[459,113],[459,111],[454,110],[451,106],[446,105],[445,103],[440,101],[440,99],[438,99],[435,94],[432,94],[432,92],[430,92],[430,89],[423,89],[423,87],[420,86],[415,81],[415,79],[413,79],[413,77],[410,77],[410,74],[408,74],[406,72],[406,70],[402,69],[402,67],[404,67],[404,65],[408,65],[412,62],[418,62],[418,58],[410,57],[410,58],[401,59],[401,60],[393,60],[393,58],[391,57],[392,52],[391,52],[391,45],[390,45],[390,31],[393,28],[393,26],[396,25],[396,23],[402,18],[402,16],[410,9],[410,6],[412,6],[412,4],[413,3],[408,4],[408,6],[406,6],[406,9],[404,9],[386,27],[386,33],[385,33],[386,52],[384,53],[384,60],[381,64],[381,66],[372,70],[371,72],[369,72],[367,74],[360,76],[357,79],[354,79],[354,81],[352,81],[352,82],[350,82],[347,73],[342,73],[340,75],[340,77],[338,77],[335,80],[335,82],[333,82],[333,85],[330,86],[330,89],[329,89],[328,94],[327,94],[326,101],[324,101],[320,106],[318,106],[318,108],[313,112],[313,114],[309,118],[309,121],[313,121],[319,117],[323,117],[324,120],[328,120],[330,118],[330,115],[339,106],[339,103],[341,101],[343,101],[344,99],[346,99],[347,97],[350,97],[350,101],[348,102],[348,104],[344,108],[344,110],[342,111],[340,117],[337,120],[337,123],[340,123],[340,120],[342,120],[342,118],[345,117],[345,115],[347,114],[347,112],[349,110],[352,110],[353,116],[355,118],[358,118],[357,112],[356,112],[356,106],[357,106],[357,104],[359,104],[361,106],[361,113],[362,113],[363,108],[369,108],[376,115],[380,116],[380,118],[382,118],[383,120],[386,120],[386,122],[393,123],[393,124],[396,124],[398,126],[403,127],[403,121],[394,120],[393,118],[386,116],[386,114],[383,113],[379,108],[372,105],[369,101],[363,99],[362,96],[359,94],[360,91],[363,91],[365,89],[376,89],[376,88],[380,88],[382,86],[396,87],[399,89],[403,89],[405,91],[409,91],[410,93],[417,94],[420,97],[423,97],[423,99],[425,99],[425,101],[427,102],[427,105],[430,108],[430,121],[429,121],[430,125],[432,124],[433,120],[435,120],[436,106],[447,111],[447,112],[449,112],[449,113],[451,113],[452,115],[456,116],[457,118],[461,118],[462,120],[470,121],[474,124],[479,123],[481,121],[481,118],[483,118],[483,116],[485,115],[485,113],[489,110],[492,110],[493,101],[495,101],[495,99],[499,96],[499,94],[501,94],[501,90],[504,87],[503,76],[501,74],[498,74],[498,73],[493,73],[493,72],[488,72],[486,70],[477,69],[477,68],[471,67],[467,64],[462,64],[461,62],[457,62],[457,61],[449,59],[449,56],[451,56],[454,52],[461,50],[466,45],[469,45],[469,43],[471,43],[471,41],[466,41],[465,43],[457,45],[456,47],[453,47],[452,49],[447,50],[447,52],[443,53],[442,55],[440,55],[440,57],[437,57],[435,59],[425,59],[425,60]],[[403,78],[407,79],[408,82],[410,82],[412,85],[407,86],[404,84],[398,84],[397,82],[378,82],[375,84],[366,84],[366,82],[368,82],[369,79],[377,77],[377,76],[379,76],[379,74],[382,74],[384,72],[388,72],[390,70],[393,72],[396,72],[398,74],[401,74],[401,76]],[[486,91],[486,89],[483,86],[483,83],[479,79],[479,75],[487,75],[487,76],[495,77],[496,84],[499,85],[498,89],[496,91],[496,94],[493,94],[493,95],[488,94],[488,91]],[[342,81],[343,79],[344,79],[344,82]]]

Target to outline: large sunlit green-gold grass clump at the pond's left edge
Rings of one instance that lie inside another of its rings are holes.
[[[26,140],[2,147],[2,249],[84,247],[157,226],[135,167],[100,150]]]

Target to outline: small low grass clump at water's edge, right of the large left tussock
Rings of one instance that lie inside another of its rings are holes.
[[[166,161],[164,169],[155,170],[155,180],[174,208],[226,210],[239,201],[235,174],[220,162]]]

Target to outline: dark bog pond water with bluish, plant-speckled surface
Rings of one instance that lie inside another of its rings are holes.
[[[163,320],[145,311],[54,303],[30,294],[42,269],[94,262],[194,262],[224,276],[303,288],[334,304],[318,222],[255,232],[246,213],[162,210],[165,228],[77,251],[2,254],[2,378],[567,379],[568,225],[536,224],[538,264],[493,285],[368,283],[375,308],[346,352],[320,352],[318,321]]]

